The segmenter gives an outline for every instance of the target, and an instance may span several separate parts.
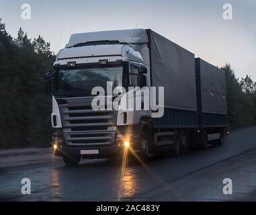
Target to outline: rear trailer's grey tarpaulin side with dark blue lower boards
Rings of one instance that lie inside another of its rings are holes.
[[[196,81],[200,126],[226,126],[225,72],[200,58],[196,58]]]

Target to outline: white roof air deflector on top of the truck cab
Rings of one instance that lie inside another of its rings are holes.
[[[144,29],[112,30],[105,32],[89,32],[72,34],[65,48],[71,48],[77,44],[99,41],[118,41],[120,43],[140,44],[148,42],[148,36]]]

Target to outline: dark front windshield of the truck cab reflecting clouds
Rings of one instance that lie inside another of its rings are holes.
[[[124,66],[86,67],[79,69],[61,69],[56,75],[54,93],[56,95],[91,95],[93,87],[103,87],[107,91],[107,82],[115,87],[125,87]]]

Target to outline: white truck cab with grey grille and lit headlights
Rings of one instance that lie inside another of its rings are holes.
[[[150,85],[149,59],[145,61],[142,57],[142,53],[148,54],[147,42],[146,32],[138,29],[73,34],[66,47],[58,52],[51,76],[54,85],[51,120],[56,128],[54,154],[62,156],[65,163],[76,164],[80,157],[112,156],[123,150],[122,135],[127,136],[128,126],[140,126],[142,118],[150,121],[151,110],[122,107],[124,98],[128,99],[125,104],[136,101],[136,93],[129,93],[128,87],[140,85],[138,76],[144,77],[140,87]],[[114,87],[124,87],[127,92],[120,99],[118,110],[97,112],[91,108],[91,91],[93,87],[106,89],[106,81],[113,81]],[[125,142],[140,141],[140,134],[133,131],[130,129],[129,140]]]

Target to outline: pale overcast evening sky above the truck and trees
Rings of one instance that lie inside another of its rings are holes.
[[[31,20],[21,17],[31,5]],[[224,20],[224,3],[232,5],[232,20]],[[0,17],[11,36],[19,27],[30,38],[40,34],[58,52],[70,34],[100,30],[151,28],[196,56],[218,65],[230,62],[237,77],[256,81],[255,0],[0,0]]]

